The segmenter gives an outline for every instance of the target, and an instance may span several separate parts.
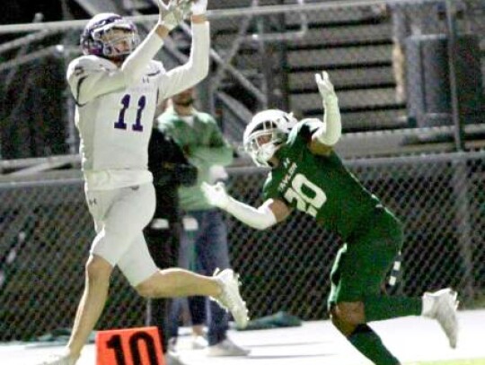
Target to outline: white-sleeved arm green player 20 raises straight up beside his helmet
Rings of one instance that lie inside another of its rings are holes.
[[[315,74],[315,82],[322,96],[324,114],[322,126],[313,134],[311,149],[316,152],[330,152],[332,146],[339,142],[342,133],[339,99],[329,74],[325,71],[322,74]]]

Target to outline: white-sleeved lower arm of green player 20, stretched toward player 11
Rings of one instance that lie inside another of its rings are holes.
[[[229,196],[222,183],[217,183],[216,185],[203,183],[201,189],[204,196],[206,196],[208,204],[225,210],[227,213],[232,214],[234,218],[256,230],[266,230],[272,225],[285,220],[290,213],[287,204],[279,200],[269,199],[259,208],[244,204]]]

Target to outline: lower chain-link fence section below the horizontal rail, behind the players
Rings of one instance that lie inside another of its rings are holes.
[[[453,286],[463,305],[485,291],[485,152],[347,161],[404,222],[397,291]],[[260,204],[265,171],[231,169],[229,190]],[[93,222],[81,178],[0,184],[0,341],[70,327],[84,284]],[[252,317],[287,310],[327,317],[331,262],[340,240],[298,213],[251,230],[227,217],[232,261]],[[145,300],[115,272],[99,329],[143,325]]]

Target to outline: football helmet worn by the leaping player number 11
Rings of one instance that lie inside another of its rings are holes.
[[[113,30],[125,30],[123,36],[114,37]],[[81,35],[81,48],[84,55],[95,55],[110,59],[123,59],[139,44],[135,23],[115,13],[100,13],[84,27]],[[120,48],[124,43],[128,47]]]

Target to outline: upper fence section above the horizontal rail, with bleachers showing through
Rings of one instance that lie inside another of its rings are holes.
[[[483,122],[481,0],[213,3],[212,67],[201,98],[236,142],[256,110],[321,117],[313,74],[323,69],[335,83],[346,132],[451,125],[454,102],[463,123]],[[144,34],[157,16],[133,19]],[[0,35],[14,38],[0,45],[4,159],[76,151],[64,74],[66,63],[80,56],[84,24],[0,26]],[[172,31],[157,55],[167,68],[184,61],[189,33],[188,25]]]

